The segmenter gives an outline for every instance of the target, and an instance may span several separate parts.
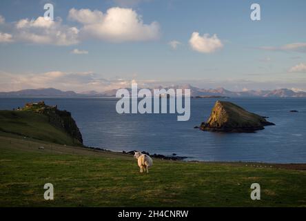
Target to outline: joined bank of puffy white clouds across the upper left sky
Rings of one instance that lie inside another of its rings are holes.
[[[150,41],[160,36],[159,23],[143,23],[141,15],[131,8],[109,8],[104,14],[99,10],[72,8],[68,19],[75,21],[76,26],[63,24],[60,17],[54,21],[37,17],[6,23],[11,32],[3,32],[0,27],[0,42],[71,46],[86,39],[119,43]],[[0,24],[4,23],[5,19],[0,15]]]

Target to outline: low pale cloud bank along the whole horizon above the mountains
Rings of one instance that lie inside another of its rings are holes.
[[[134,79],[134,77],[133,77]],[[14,91],[29,88],[57,88],[60,90],[74,90],[78,93],[96,90],[103,92],[118,88],[130,88],[132,79],[114,77],[105,79],[102,75],[92,72],[68,73],[51,71],[47,73],[17,74],[0,71],[1,91]],[[305,81],[300,79],[181,79],[174,81],[161,81],[158,79],[136,79],[139,87],[150,88],[159,86],[173,86],[174,84],[191,84],[198,88],[227,88],[228,90],[267,90],[274,88],[296,88],[304,90]],[[303,89],[304,88],[304,89]]]

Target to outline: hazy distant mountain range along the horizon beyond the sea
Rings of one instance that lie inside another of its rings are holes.
[[[163,88],[163,87],[156,87]],[[282,88],[276,90],[245,90],[241,92],[235,92],[226,90],[224,88],[216,89],[203,89],[196,88],[189,84],[181,86],[170,86],[165,87],[165,90],[169,88],[174,89],[186,89],[189,88],[191,95],[195,96],[225,96],[225,97],[306,97],[306,92],[299,91],[294,92],[293,90]],[[127,88],[130,91],[130,88]],[[154,88],[151,88],[153,90]],[[75,93],[72,90],[62,91],[55,88],[38,88],[38,89],[27,89],[18,90],[12,92],[0,92],[0,97],[114,97],[116,96],[117,89],[106,90],[102,93],[96,92],[95,90],[85,91],[83,93]]]

